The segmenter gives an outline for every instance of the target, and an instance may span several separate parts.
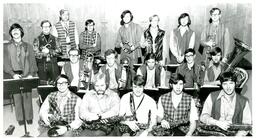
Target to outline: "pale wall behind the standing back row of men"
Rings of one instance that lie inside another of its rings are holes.
[[[17,22],[24,28],[24,40],[32,43],[41,32],[40,22],[48,19],[55,24],[59,20],[59,10],[70,10],[70,19],[75,21],[80,34],[84,30],[85,20],[91,18],[96,22],[96,30],[102,37],[102,52],[114,48],[116,33],[120,27],[122,11],[129,9],[134,15],[134,22],[144,29],[148,27],[148,18],[153,14],[160,16],[160,28],[167,33],[169,45],[170,31],[177,27],[178,17],[187,12],[191,17],[191,28],[196,32],[196,50],[199,46],[201,31],[208,24],[209,10],[219,7],[222,10],[222,21],[229,27],[232,36],[248,45],[252,44],[252,5],[250,3],[214,3],[214,2],[175,2],[146,0],[76,0],[68,3],[7,3],[3,5],[3,35],[9,40],[11,24]],[[245,58],[251,62],[251,53]],[[197,57],[200,59],[200,55]]]

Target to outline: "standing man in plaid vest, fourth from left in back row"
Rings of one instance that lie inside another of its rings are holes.
[[[82,59],[88,52],[94,56],[101,53],[100,34],[95,31],[95,22],[92,19],[85,21],[85,30],[79,36],[79,48],[82,51]]]

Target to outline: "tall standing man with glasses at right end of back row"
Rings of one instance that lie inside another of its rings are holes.
[[[221,22],[221,10],[219,8],[212,8],[210,10],[209,24],[205,27],[201,34],[201,46],[203,49],[203,58],[208,66],[208,53],[214,47],[220,47],[223,53],[223,62],[226,62],[228,54],[233,51],[231,45],[230,32],[227,26]]]

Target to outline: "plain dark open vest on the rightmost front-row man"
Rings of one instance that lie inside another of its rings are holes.
[[[212,113],[211,116],[214,119],[220,119],[220,107],[221,107],[221,99],[217,100],[217,97],[219,96],[220,91],[212,92],[211,98],[212,98]],[[243,110],[245,107],[245,104],[247,102],[247,98],[244,96],[241,96],[240,94],[236,94],[236,106],[235,106],[235,112],[232,118],[233,124],[242,124],[243,122]]]

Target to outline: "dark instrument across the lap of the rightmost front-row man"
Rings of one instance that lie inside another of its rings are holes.
[[[227,130],[223,130],[216,125],[207,125],[204,123],[199,123],[197,127],[197,132],[199,135],[211,135],[211,136],[235,136],[237,131],[245,130],[250,131],[252,130],[251,124],[231,124]]]

